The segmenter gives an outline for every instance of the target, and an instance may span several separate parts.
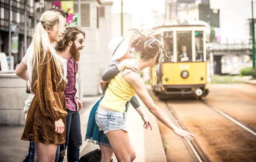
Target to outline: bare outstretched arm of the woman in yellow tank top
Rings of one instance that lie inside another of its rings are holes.
[[[123,70],[123,73],[127,73],[127,70]],[[154,104],[154,101],[152,100],[151,96],[148,94],[142,78],[140,78],[140,75],[137,73],[131,72],[123,76],[124,80],[130,84],[137,95],[140,97],[140,99],[143,101],[145,106],[148,108],[148,110],[155,116],[157,117],[158,120],[160,120],[161,123],[166,125],[168,128],[172,129],[175,134],[187,139],[187,140],[192,140],[193,139],[193,134],[177,128],[177,126],[174,125],[168,118],[163,114],[163,112],[160,110],[159,107],[157,107]]]

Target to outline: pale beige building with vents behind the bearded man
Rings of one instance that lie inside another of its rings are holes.
[[[52,2],[46,0],[46,9],[52,7]],[[67,0],[61,0],[61,2]],[[111,39],[111,6],[112,2],[102,0],[80,0],[81,2],[81,28],[86,36],[85,47],[80,51],[79,70],[81,74],[77,77],[78,93],[84,95],[98,95],[99,81],[103,69],[108,65],[110,59],[107,45]],[[78,14],[78,0],[73,0],[73,14]],[[102,11],[102,12],[100,12]],[[79,91],[79,89],[81,91]]]

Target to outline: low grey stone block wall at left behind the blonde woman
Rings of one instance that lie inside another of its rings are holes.
[[[15,72],[0,73],[0,125],[25,125],[23,109],[28,96],[26,81]]]

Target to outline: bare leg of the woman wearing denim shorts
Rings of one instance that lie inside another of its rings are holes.
[[[107,133],[111,148],[118,162],[131,162],[130,140],[128,132],[122,129]]]

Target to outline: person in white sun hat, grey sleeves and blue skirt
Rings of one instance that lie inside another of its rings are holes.
[[[108,141],[108,137],[106,137],[103,131],[99,131],[99,127],[96,124],[96,110],[99,106],[99,103],[102,101],[102,98],[105,95],[105,91],[108,88],[109,80],[111,80],[111,78],[114,78],[120,72],[120,70],[122,70],[124,67],[127,67],[139,73],[139,67],[132,59],[134,56],[132,53],[133,49],[131,48],[131,43],[136,38],[137,34],[133,34],[125,39],[122,37],[115,37],[111,39],[108,45],[108,49],[112,53],[112,59],[108,64],[108,68],[102,74],[102,80],[100,82],[100,86],[102,89],[102,97],[99,99],[99,101],[96,102],[96,104],[91,109],[87,124],[87,132],[85,136],[85,140],[87,142],[93,142],[93,144],[99,145],[101,151],[101,162],[110,162],[113,157],[113,151]],[[143,112],[143,109],[141,108],[140,103],[136,96],[132,97],[130,102],[128,101],[126,103],[126,111],[129,106],[129,103],[131,103],[134,109],[136,109],[137,112],[141,115],[142,120],[144,121],[144,128],[151,128],[151,122],[148,120],[148,117],[146,117],[145,113]],[[136,154],[134,148],[131,147],[131,161],[133,161],[135,157]],[[82,160],[80,159],[80,161]]]

